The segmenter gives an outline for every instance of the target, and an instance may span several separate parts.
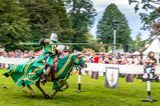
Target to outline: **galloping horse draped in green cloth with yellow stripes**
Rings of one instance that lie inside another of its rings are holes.
[[[56,65],[55,65],[56,64]],[[34,63],[33,61],[28,61],[25,64],[13,65],[9,68],[8,72],[3,75],[6,77],[11,76],[13,81],[18,86],[27,86],[30,90],[30,94],[34,97],[34,90],[30,85],[35,84],[36,87],[41,91],[43,96],[47,99],[52,98],[59,91],[64,91],[69,87],[67,79],[70,77],[72,68],[74,66],[82,69],[85,67],[85,62],[83,61],[82,55],[68,54],[67,56],[58,60],[54,65],[56,66],[54,72],[54,81],[52,82],[52,94],[48,95],[40,86],[40,80],[43,76],[43,70],[45,65],[43,63]],[[52,76],[53,71],[50,71]],[[47,79],[47,81],[51,81]],[[24,93],[28,93],[26,90],[22,90]]]

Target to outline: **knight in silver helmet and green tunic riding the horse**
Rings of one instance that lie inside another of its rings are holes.
[[[65,49],[64,45],[54,45],[58,42],[58,36],[56,33],[52,33],[50,39],[41,39],[40,45],[43,46],[43,54],[39,56],[38,61],[42,61],[45,65],[43,71],[44,75],[41,79],[41,83],[45,84],[50,71],[52,70],[51,80],[54,80],[55,63],[58,61],[60,55]]]

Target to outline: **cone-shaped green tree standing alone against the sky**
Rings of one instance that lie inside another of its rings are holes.
[[[97,37],[103,43],[113,43],[113,28],[116,29],[117,43],[126,45],[132,39],[127,20],[115,4],[110,4],[97,25]]]

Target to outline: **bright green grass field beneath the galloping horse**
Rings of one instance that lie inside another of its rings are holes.
[[[4,70],[0,70],[2,74]],[[160,106],[160,83],[152,83],[152,97],[155,103],[143,103],[146,99],[146,83],[136,79],[134,83],[126,83],[124,78],[119,80],[118,89],[104,87],[104,77],[98,80],[90,76],[82,76],[82,89],[87,92],[73,92],[77,89],[77,75],[68,80],[70,88],[58,93],[53,99],[44,99],[35,87],[35,97],[23,94],[11,78],[0,76],[0,106]],[[42,86],[51,92],[51,83]]]

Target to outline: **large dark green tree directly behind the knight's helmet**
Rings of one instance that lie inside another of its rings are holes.
[[[20,0],[20,3],[28,10],[33,41],[49,38],[52,32],[58,34],[60,41],[71,40],[72,29],[62,0]]]

